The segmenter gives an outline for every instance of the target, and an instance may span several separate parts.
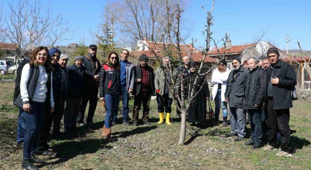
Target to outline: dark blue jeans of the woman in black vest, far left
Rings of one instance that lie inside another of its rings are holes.
[[[24,137],[23,159],[30,159],[31,155],[35,154],[35,148],[38,142],[38,133],[42,121],[45,116],[46,102],[30,102],[31,112],[23,111],[26,134]]]

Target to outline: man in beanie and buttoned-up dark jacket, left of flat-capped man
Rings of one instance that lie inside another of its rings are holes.
[[[83,62],[84,57],[79,55],[74,58],[74,64],[67,67],[70,84],[64,113],[65,133],[69,132],[70,128],[77,127],[77,117],[85,89],[84,80],[86,73]]]

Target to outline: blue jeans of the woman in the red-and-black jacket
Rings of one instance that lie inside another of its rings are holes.
[[[118,113],[119,97],[119,94],[105,94],[105,128],[107,129],[110,129],[111,117],[114,116],[115,113]]]

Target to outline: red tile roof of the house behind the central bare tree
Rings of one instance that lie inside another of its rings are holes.
[[[152,50],[155,50],[156,55],[159,57],[162,57],[163,55],[163,51],[165,48],[168,48],[168,43],[154,43],[152,41],[146,41],[149,48]],[[171,48],[172,46],[170,46]],[[131,56],[140,56],[141,54],[146,54],[147,57],[149,58],[155,58],[155,53],[152,50],[145,50],[145,51],[132,51],[130,53]],[[200,53],[200,51],[196,50],[192,44],[186,44],[186,45],[180,45],[180,50],[181,50],[181,55],[182,56],[188,56],[188,51],[191,52],[191,58],[193,61],[195,62],[200,62],[203,59],[203,55]],[[188,51],[187,51],[188,50]],[[172,48],[173,51],[173,55],[177,56],[177,49],[175,48],[175,46],[173,46]],[[205,58],[205,62],[216,62],[216,60],[212,57],[206,57]]]

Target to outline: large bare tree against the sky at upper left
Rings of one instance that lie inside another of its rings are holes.
[[[29,44],[52,47],[58,41],[67,39],[69,21],[61,14],[53,17],[52,6],[42,6],[37,0],[7,3],[9,13],[3,18],[0,42],[15,44],[17,50],[10,52],[17,58],[24,54]]]

